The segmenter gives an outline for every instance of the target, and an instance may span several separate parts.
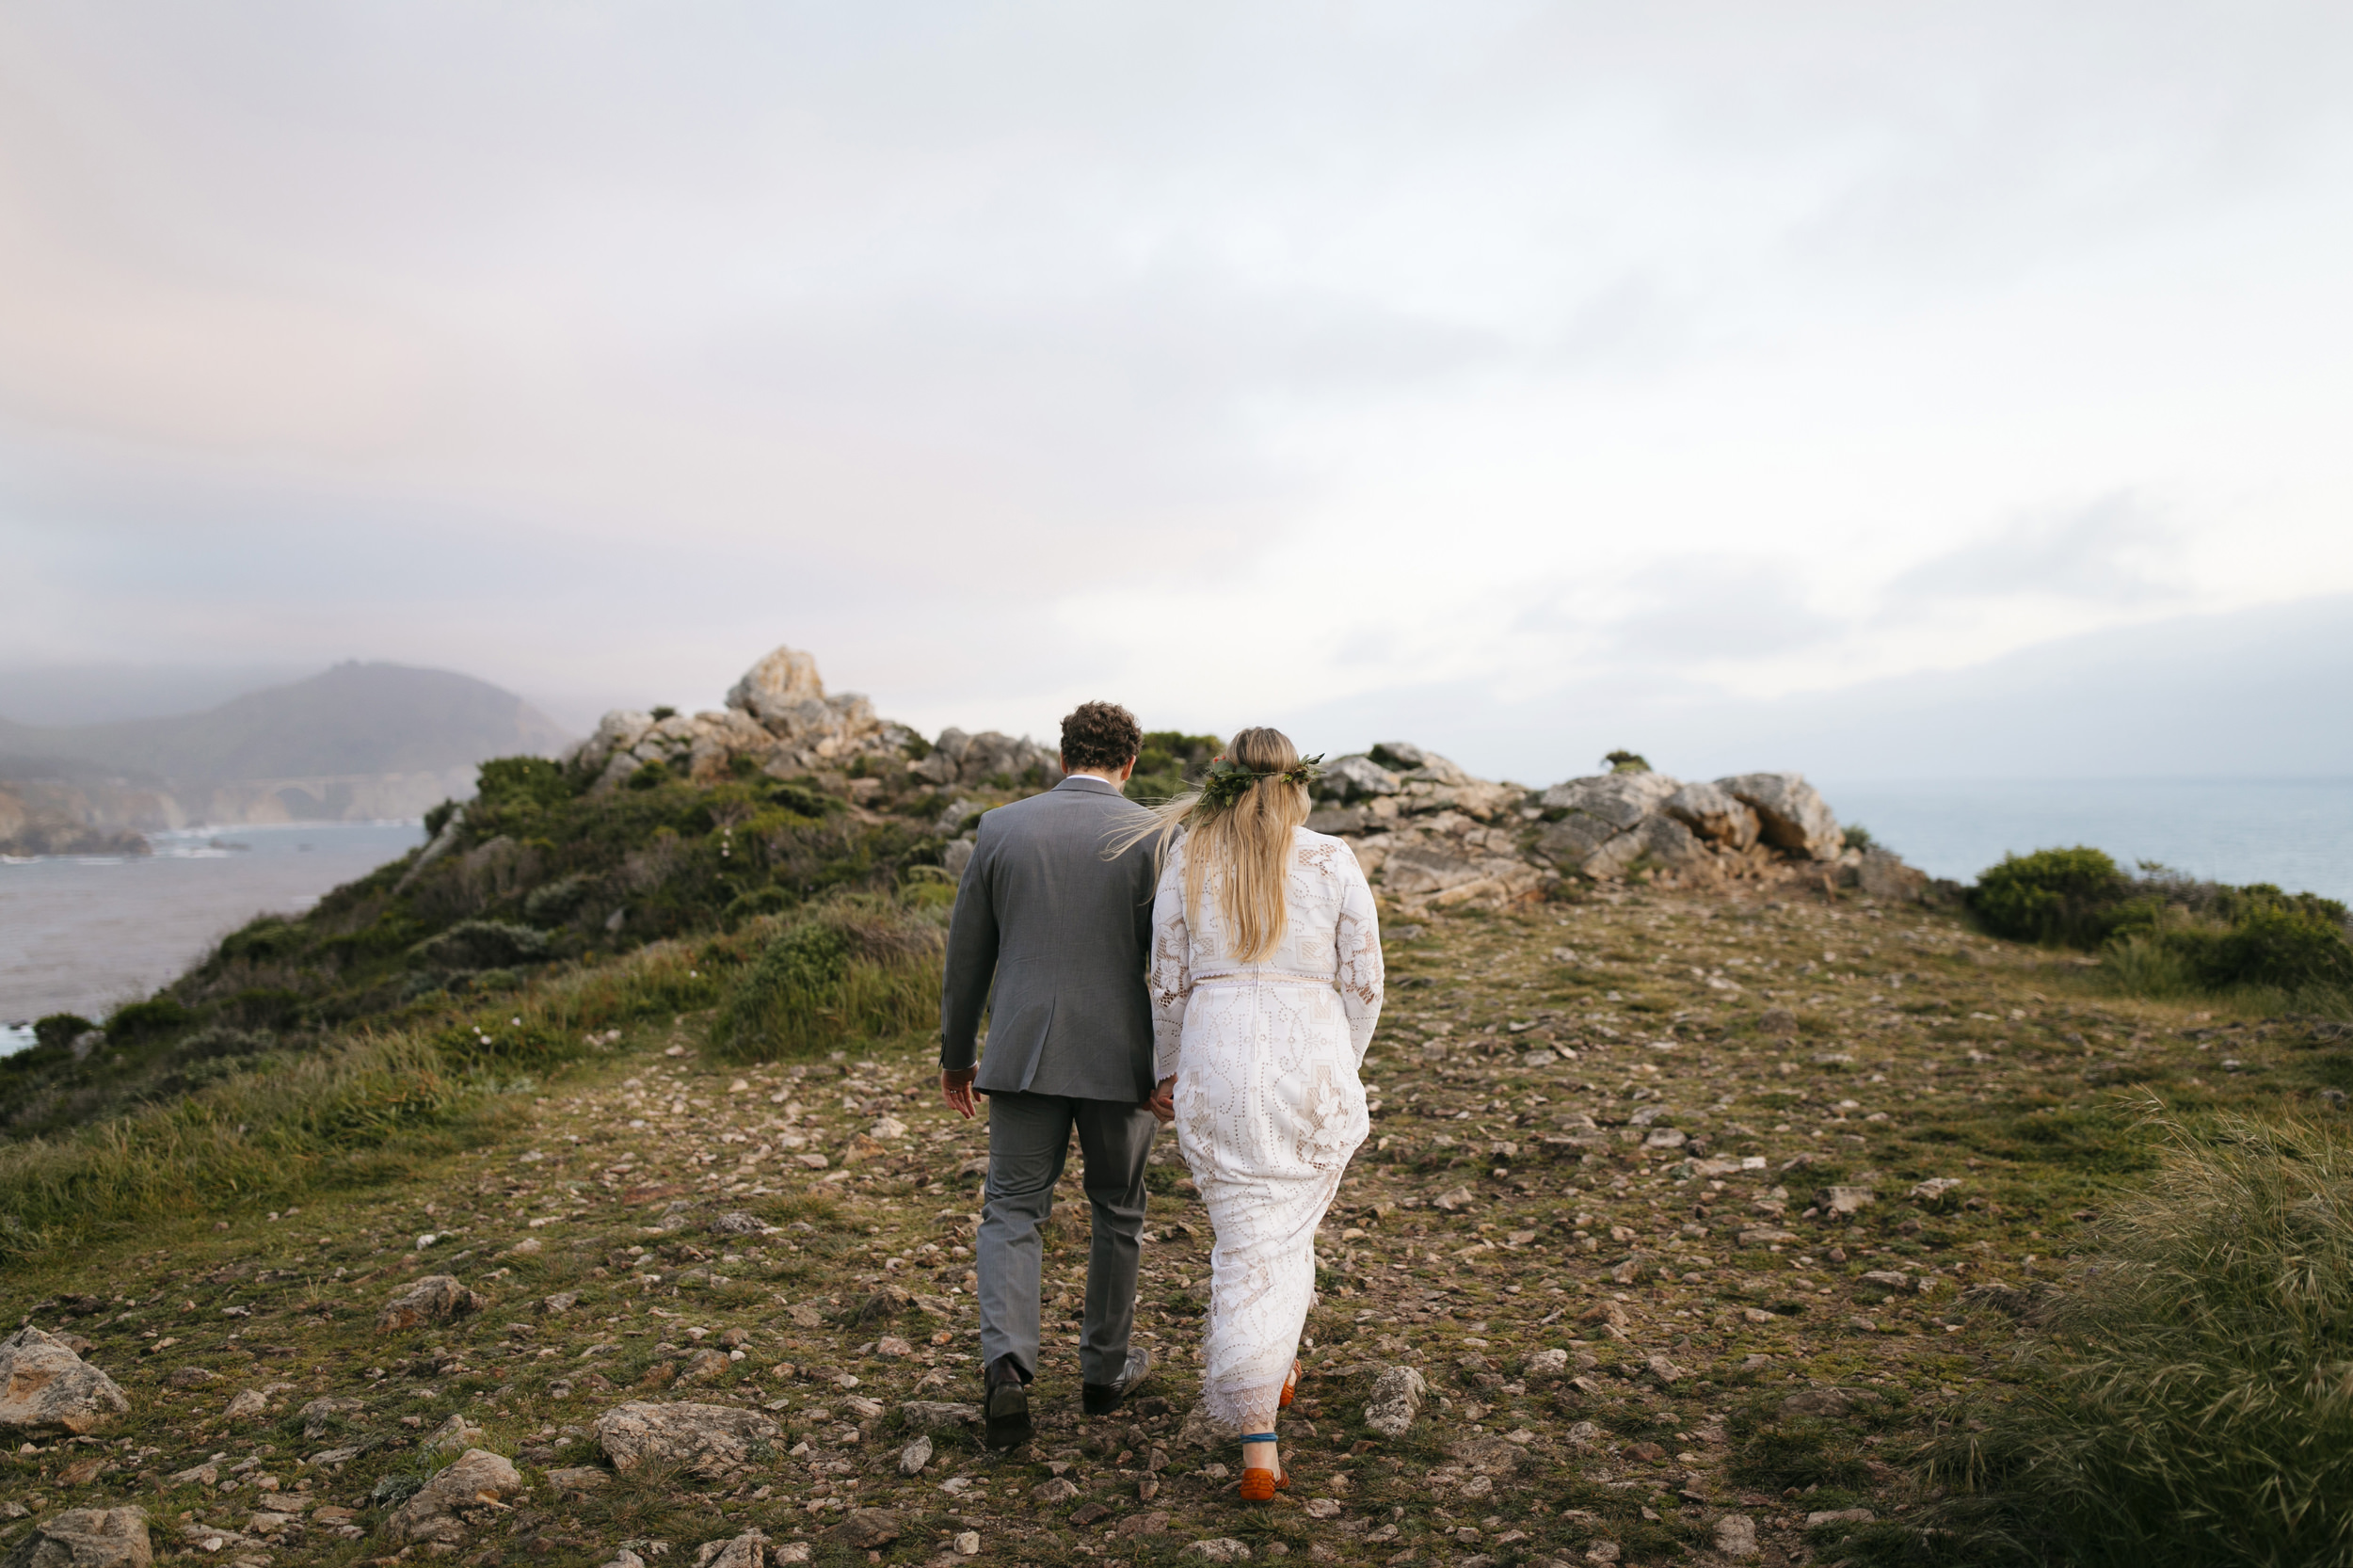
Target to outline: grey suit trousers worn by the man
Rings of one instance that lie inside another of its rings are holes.
[[[1061,1180],[1073,1125],[1094,1231],[1078,1375],[1113,1384],[1127,1368],[1127,1335],[1136,1326],[1144,1161],[1158,1125],[1144,1107],[1111,1099],[988,1095],[988,1191],[974,1245],[981,1276],[981,1366],[1012,1356],[1024,1377],[1038,1373],[1045,1250],[1038,1227],[1054,1212],[1054,1182]]]

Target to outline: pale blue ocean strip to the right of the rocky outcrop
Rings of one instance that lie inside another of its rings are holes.
[[[2092,845],[2221,883],[2353,902],[2353,779],[2115,779],[1838,784],[1831,810],[1934,876],[1972,881],[2002,855]]]

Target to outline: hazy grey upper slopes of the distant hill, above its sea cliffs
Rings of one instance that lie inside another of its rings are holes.
[[[445,772],[489,756],[553,753],[569,739],[487,680],[353,662],[174,718],[71,727],[0,718],[0,777],[224,784]]]

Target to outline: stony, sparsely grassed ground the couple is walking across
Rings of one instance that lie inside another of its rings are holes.
[[[2144,1163],[2132,1085],[2348,1076],[2332,1024],[2115,1001],[2078,958],[1854,892],[1391,921],[1374,1137],[1271,1507],[1186,1422],[1209,1236],[1169,1137],[1139,1314],[1162,1370],[1078,1413],[1073,1182],[1040,1439],[991,1455],[984,1128],[920,1043],[736,1069],[685,1015],[515,1085],[398,1184],[0,1278],[5,1323],[47,1335],[0,1347],[26,1370],[0,1422],[45,1422],[0,1457],[0,1554],[1838,1561],[1918,1502],[1908,1450],[2000,1394],[2009,1314]]]

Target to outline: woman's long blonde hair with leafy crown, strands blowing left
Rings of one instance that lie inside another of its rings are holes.
[[[1282,730],[1242,730],[1226,756],[1249,772],[1282,775],[1299,768],[1299,746]],[[1184,838],[1184,916],[1200,923],[1200,890],[1217,876],[1217,906],[1226,916],[1233,956],[1259,963],[1282,944],[1289,909],[1282,899],[1292,859],[1292,829],[1306,826],[1308,791],[1282,777],[1261,777],[1224,810],[1205,810],[1200,791],[1153,808],[1151,822],[1118,833],[1111,850],[1153,841],[1153,862],[1167,866]]]

